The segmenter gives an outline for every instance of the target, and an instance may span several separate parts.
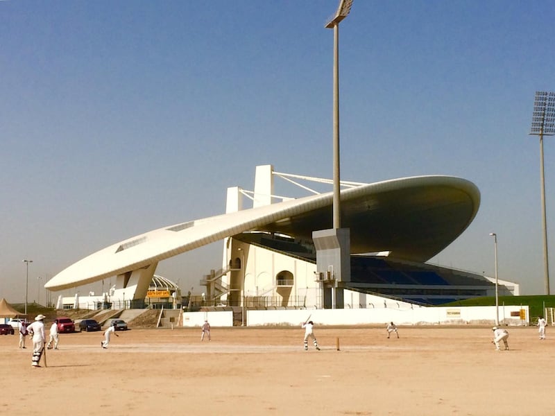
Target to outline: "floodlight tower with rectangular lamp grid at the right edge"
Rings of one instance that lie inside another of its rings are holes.
[[[542,193],[543,279],[545,295],[549,295],[549,259],[547,256],[547,218],[545,215],[545,177],[543,169],[543,137],[555,134],[555,92],[536,92],[533,101],[530,135],[540,137],[540,187]]]

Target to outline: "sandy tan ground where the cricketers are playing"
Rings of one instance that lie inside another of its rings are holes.
[[[0,336],[2,415],[555,415],[555,338],[509,328],[131,329],[60,335],[47,367]],[[339,351],[336,343],[339,338]]]

